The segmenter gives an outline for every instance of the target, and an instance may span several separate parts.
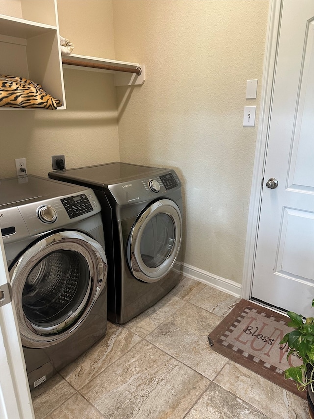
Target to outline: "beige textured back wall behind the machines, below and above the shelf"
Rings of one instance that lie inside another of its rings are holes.
[[[114,58],[111,1],[61,0],[58,10],[60,34],[73,42],[73,53]],[[68,168],[119,160],[113,76],[65,69],[64,83],[67,110],[0,112],[2,178],[16,175],[14,159],[20,157],[40,176],[52,170],[55,154],[65,155]]]

